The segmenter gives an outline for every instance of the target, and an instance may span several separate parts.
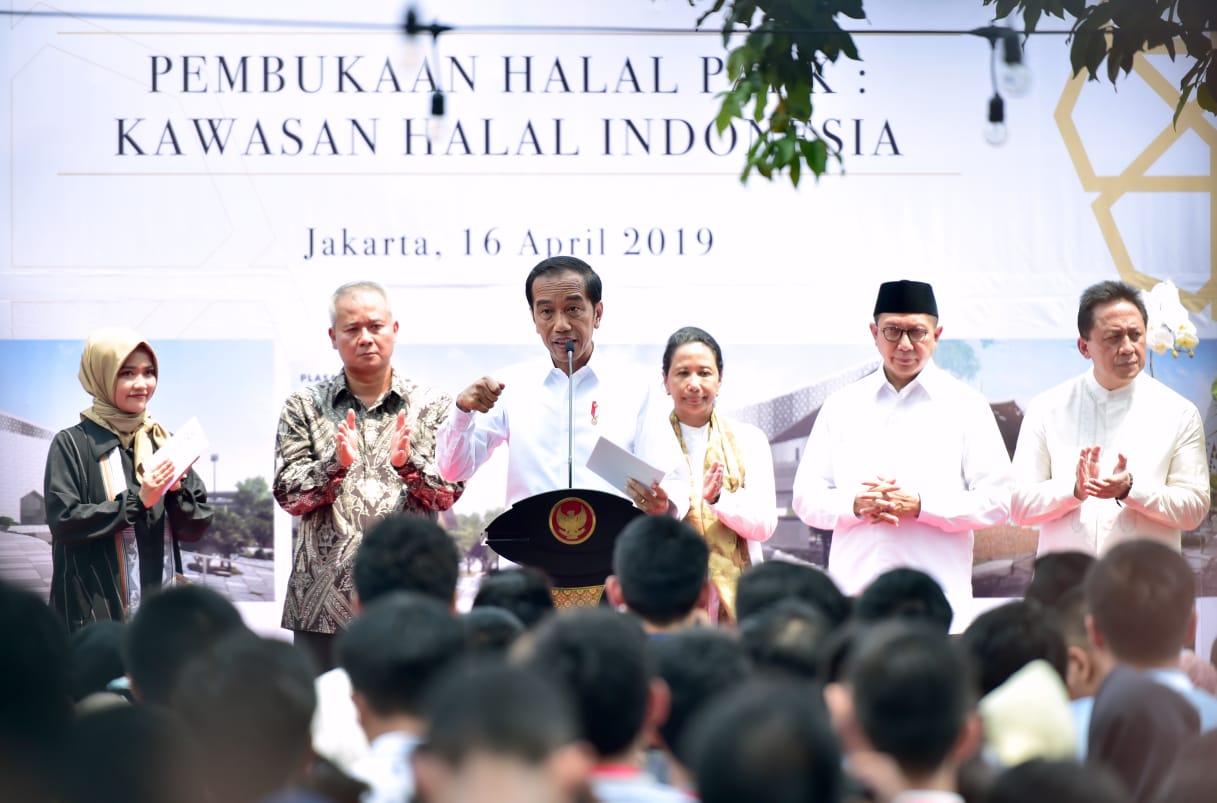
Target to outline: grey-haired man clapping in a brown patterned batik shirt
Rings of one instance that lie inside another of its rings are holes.
[[[391,365],[398,322],[385,288],[343,285],[330,322],[342,372],[288,397],[275,442],[275,500],[299,516],[282,627],[319,672],[333,667],[333,636],[353,617],[350,567],[364,530],[393,512],[433,518],[464,489],[434,466],[452,398]]]

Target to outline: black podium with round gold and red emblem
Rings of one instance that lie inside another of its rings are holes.
[[[643,511],[601,490],[566,488],[521,499],[486,528],[486,545],[545,572],[557,607],[600,603],[617,534]]]

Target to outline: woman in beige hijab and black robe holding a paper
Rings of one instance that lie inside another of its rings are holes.
[[[123,620],[140,597],[181,572],[179,540],[198,540],[212,520],[194,470],[155,456],[169,433],[147,411],[157,359],[129,330],[94,332],[80,355],[92,406],[60,431],[46,456],[51,607],[75,631]]]

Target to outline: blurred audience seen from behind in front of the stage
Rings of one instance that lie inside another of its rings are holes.
[[[1188,651],[1194,578],[1161,543],[1037,561],[1026,599],[949,635],[947,594],[892,569],[745,569],[711,622],[712,549],[634,520],[605,605],[537,569],[459,611],[460,557],[394,513],[353,562],[333,669],[223,596],[148,594],[71,636],[0,588],[5,798],[60,803],[981,803],[1208,801],[1217,668]]]

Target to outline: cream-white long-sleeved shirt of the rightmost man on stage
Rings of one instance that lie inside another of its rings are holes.
[[[1128,459],[1133,488],[1122,504],[1073,496],[1077,460],[1100,447],[1100,473]],[[1140,374],[1107,391],[1087,371],[1037,395],[1027,405],[1014,453],[1010,517],[1039,526],[1039,554],[1103,554],[1149,537],[1179,549],[1180,530],[1208,512],[1205,436],[1195,405]]]

